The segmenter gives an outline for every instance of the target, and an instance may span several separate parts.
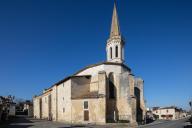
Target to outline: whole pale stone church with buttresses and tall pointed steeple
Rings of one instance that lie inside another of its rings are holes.
[[[107,60],[87,66],[34,96],[34,117],[66,123],[141,122],[145,115],[144,81],[124,64],[124,46],[114,4]]]

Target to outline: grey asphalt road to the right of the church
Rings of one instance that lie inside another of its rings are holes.
[[[188,119],[174,120],[174,121],[159,121],[152,124],[139,126],[138,128],[184,128]],[[192,127],[191,127],[192,128]]]

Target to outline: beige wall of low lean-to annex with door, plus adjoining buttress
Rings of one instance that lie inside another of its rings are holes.
[[[96,81],[98,80],[98,81]],[[83,98],[72,100],[72,122],[73,123],[105,123],[106,122],[106,74],[100,72],[93,77],[92,82],[97,83],[97,98]],[[95,85],[93,85],[95,86]],[[88,108],[84,108],[84,102],[88,102]],[[84,111],[89,112],[89,121],[84,121]]]

